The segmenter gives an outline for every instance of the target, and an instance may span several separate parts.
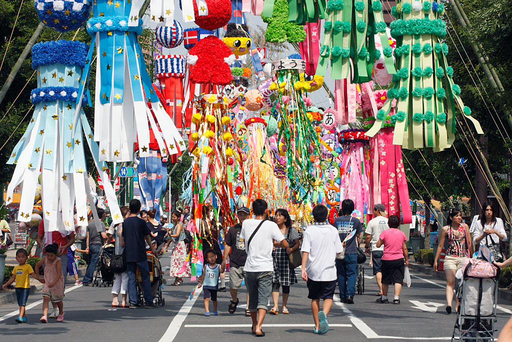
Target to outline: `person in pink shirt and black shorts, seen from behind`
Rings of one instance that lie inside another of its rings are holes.
[[[386,229],[379,235],[377,247],[384,245],[382,255],[382,297],[377,299],[377,303],[389,303],[389,286],[395,285],[395,297],[393,304],[400,304],[400,290],[402,289],[403,271],[405,266],[409,266],[409,254],[407,252],[407,237],[398,227],[400,218],[391,215],[388,219],[388,226],[394,229]],[[404,265],[405,260],[405,265]]]

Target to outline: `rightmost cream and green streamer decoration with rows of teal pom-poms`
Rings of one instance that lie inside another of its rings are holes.
[[[377,113],[368,136],[375,136],[385,126],[392,99],[397,100],[392,116],[396,119],[395,145],[406,149],[432,147],[435,151],[450,147],[455,140],[456,105],[477,133],[483,134],[480,124],[471,116],[471,109],[462,103],[460,87],[452,78],[453,68],[446,61],[443,12],[443,4],[429,1],[405,0],[393,8],[397,19],[390,27],[397,41],[397,72],[387,103]]]

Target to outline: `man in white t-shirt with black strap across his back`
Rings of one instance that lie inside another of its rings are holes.
[[[274,263],[273,242],[276,247],[288,248],[288,242],[273,222],[265,220],[268,215],[267,203],[263,199],[252,202],[254,218],[242,223],[240,238],[244,239],[247,259],[245,260],[245,285],[249,293],[249,312],[252,319],[252,333],[265,336],[262,331],[263,319],[267,313],[267,302],[272,288]],[[258,229],[258,227],[260,227]],[[258,229],[258,231],[256,231]],[[254,231],[256,231],[254,233]],[[253,234],[254,233],[254,234]],[[252,238],[251,238],[252,236]]]

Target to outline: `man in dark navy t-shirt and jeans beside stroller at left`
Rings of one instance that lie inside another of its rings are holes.
[[[130,309],[142,307],[137,292],[137,267],[142,278],[142,289],[144,290],[144,304],[146,309],[158,308],[153,303],[151,295],[150,270],[147,266],[146,243],[151,248],[153,255],[157,255],[155,247],[151,244],[150,229],[146,222],[137,217],[140,212],[140,200],[130,201],[130,216],[128,216],[122,227],[121,246],[124,247],[126,257],[126,270],[128,272],[128,294],[130,296]]]

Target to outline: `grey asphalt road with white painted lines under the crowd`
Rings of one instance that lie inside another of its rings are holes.
[[[169,263],[169,257],[164,256],[162,266]],[[325,336],[312,334],[313,319],[306,284],[297,276],[299,283],[291,286],[288,301],[290,314],[267,315],[263,326],[266,337],[294,341],[451,339],[456,315],[444,313],[445,292],[442,281],[412,273],[412,286],[402,290],[401,304],[386,305],[374,303],[377,285],[368,266],[366,274],[365,293],[355,296],[354,305],[335,300],[328,317],[330,330]],[[40,294],[29,297],[27,324],[15,323],[18,310],[16,303],[0,306],[0,340],[252,340],[251,320],[244,316],[243,299],[240,300],[237,312],[231,315],[227,312],[229,292],[219,293],[219,316],[204,317],[202,292],[196,291],[195,297],[188,299],[196,284],[185,281],[181,286],[170,286],[173,279],[168,276],[165,278],[165,306],[158,309],[112,309],[111,288],[74,285],[66,287],[63,323],[56,323],[54,319],[50,319],[49,324],[39,323],[42,315]],[[239,298],[245,298],[245,291],[242,291]],[[337,294],[336,298],[339,299]],[[512,303],[499,299],[498,305],[496,327],[501,330],[512,314]]]

